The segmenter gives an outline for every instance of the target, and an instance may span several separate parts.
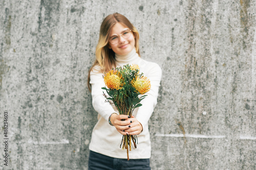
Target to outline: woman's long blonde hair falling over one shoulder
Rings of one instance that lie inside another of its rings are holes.
[[[94,64],[89,70],[88,74],[88,88],[91,91],[91,84],[90,84],[90,72],[92,71],[95,65],[99,65],[101,68],[101,72],[108,72],[112,69],[112,67],[116,67],[115,64],[115,53],[112,49],[109,48],[109,37],[110,32],[113,26],[117,23],[121,23],[125,27],[132,30],[135,36],[135,49],[138,55],[140,56],[139,51],[139,32],[137,29],[132,25],[132,23],[123,15],[119,13],[114,13],[106,16],[101,23],[100,26],[100,33],[99,33],[99,41],[96,46],[96,59]]]

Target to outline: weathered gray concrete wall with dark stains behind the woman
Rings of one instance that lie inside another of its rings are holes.
[[[87,169],[97,121],[88,70],[114,12],[163,70],[152,169],[256,169],[255,11],[254,0],[2,0],[0,169]]]

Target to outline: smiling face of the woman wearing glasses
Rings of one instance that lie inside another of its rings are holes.
[[[109,48],[111,48],[118,55],[126,55],[130,53],[135,47],[134,34],[132,34],[129,38],[126,39],[120,36],[120,34],[122,34],[126,28],[127,27],[117,22],[110,32],[110,37],[112,37],[113,35],[119,36],[119,41],[116,44],[112,44],[109,42]]]

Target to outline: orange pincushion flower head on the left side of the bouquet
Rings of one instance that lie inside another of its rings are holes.
[[[110,70],[104,76],[104,83],[109,89],[121,89],[123,86],[121,80],[122,75],[117,70]]]

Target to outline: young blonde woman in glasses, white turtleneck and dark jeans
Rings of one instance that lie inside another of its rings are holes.
[[[104,72],[126,64],[137,64],[140,73],[143,72],[151,81],[150,91],[141,101],[142,106],[134,110],[132,117],[118,114],[115,106],[105,103],[101,89],[105,87],[102,78]],[[96,60],[88,76],[92,104],[98,112],[98,122],[89,145],[89,170],[151,169],[148,120],[157,104],[161,76],[162,70],[158,64],[140,58],[139,33],[132,23],[118,13],[105,17],[100,27]],[[137,149],[129,152],[129,161],[126,151],[120,149],[122,135],[126,134],[138,137]]]

